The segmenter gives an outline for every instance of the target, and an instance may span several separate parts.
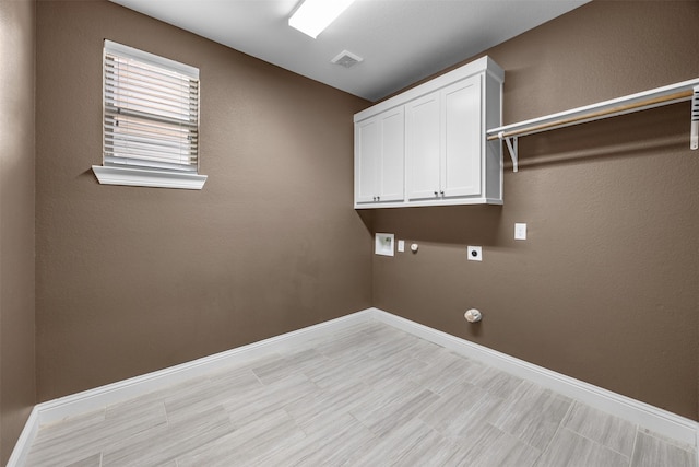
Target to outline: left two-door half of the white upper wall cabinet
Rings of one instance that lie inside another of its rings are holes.
[[[355,126],[355,202],[405,198],[405,118],[392,108]]]

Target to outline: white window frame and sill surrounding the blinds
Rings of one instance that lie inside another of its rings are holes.
[[[199,82],[199,69],[189,65],[180,63],[154,54],[125,46],[108,39],[104,40],[103,46],[103,96],[102,96],[102,147],[103,147],[103,165],[93,165],[92,170],[102,185],[126,185],[141,187],[159,187],[159,188],[183,188],[183,189],[202,189],[208,176],[199,173],[199,145],[197,148],[197,165],[196,170],[166,170],[156,166],[142,166],[142,161],[137,164],[128,162],[108,163],[107,160],[107,133],[106,116],[107,116],[107,55],[118,56],[127,59],[138,60],[149,67],[156,67],[166,73],[178,73],[198,83],[197,93],[197,136],[199,136],[200,109],[201,109],[201,87]],[[114,135],[112,132],[110,135]],[[112,161],[117,160],[114,155]],[[126,161],[126,159],[125,159]],[[155,163],[154,165],[158,165]],[[186,165],[185,165],[186,166]]]

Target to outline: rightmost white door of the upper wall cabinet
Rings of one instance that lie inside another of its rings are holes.
[[[445,120],[441,189],[445,197],[473,196],[482,187],[481,75],[442,90]]]

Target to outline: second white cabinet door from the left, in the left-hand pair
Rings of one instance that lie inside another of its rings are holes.
[[[402,201],[405,187],[405,112],[403,106],[381,114],[381,159],[379,162],[379,198]]]

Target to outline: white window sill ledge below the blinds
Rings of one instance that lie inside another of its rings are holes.
[[[206,175],[198,174],[105,167],[102,165],[93,165],[92,171],[102,185],[202,189],[208,178]]]

